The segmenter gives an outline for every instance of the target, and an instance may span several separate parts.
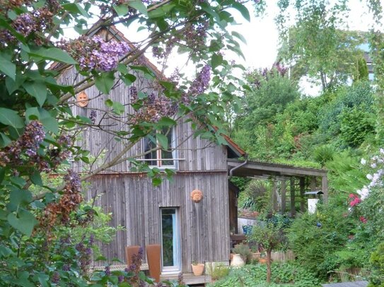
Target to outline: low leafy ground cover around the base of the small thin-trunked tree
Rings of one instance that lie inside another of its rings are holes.
[[[285,262],[272,263],[272,283],[265,282],[267,269],[265,264],[249,264],[241,269],[231,269],[228,277],[211,284],[214,287],[315,287],[320,286],[318,279],[299,264]]]

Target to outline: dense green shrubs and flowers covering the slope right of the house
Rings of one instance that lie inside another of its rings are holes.
[[[232,137],[250,158],[330,171],[330,204],[299,215],[286,229],[298,261],[322,281],[371,277],[382,282],[384,151],[376,133],[373,83],[334,85],[306,97],[280,65],[252,71],[246,79],[252,92],[243,98]],[[270,216],[272,184],[245,182],[237,182],[245,190],[239,206]]]

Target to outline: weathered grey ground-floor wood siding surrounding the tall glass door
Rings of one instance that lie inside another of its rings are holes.
[[[194,203],[190,192],[202,190],[204,199]],[[108,258],[125,262],[124,247],[160,243],[160,208],[178,207],[180,212],[183,271],[196,262],[228,261],[228,181],[226,172],[178,173],[173,182],[153,187],[143,174],[95,176],[87,197],[97,194],[97,204],[113,212],[112,225],[126,226],[111,244],[103,246]]]

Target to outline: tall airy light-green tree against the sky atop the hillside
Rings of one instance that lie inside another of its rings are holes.
[[[322,90],[345,83],[354,75],[355,63],[363,51],[359,45],[367,42],[363,32],[345,30],[347,1],[279,1],[277,17],[281,36],[279,59],[291,66],[291,76],[307,75],[320,80]],[[295,10],[294,25],[288,13]]]

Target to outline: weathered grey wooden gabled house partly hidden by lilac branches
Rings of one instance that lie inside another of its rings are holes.
[[[116,28],[102,28],[98,35],[117,41],[128,41]],[[156,77],[161,73],[153,64],[146,66]],[[151,89],[151,80],[135,73],[137,90]],[[62,83],[80,83],[74,68],[68,68],[60,76]],[[133,114],[130,106],[129,87],[116,85],[110,94],[100,94],[96,87],[85,90],[89,98],[86,106],[74,104],[74,115],[91,117],[91,111],[107,110],[105,99],[121,102],[127,114]],[[123,130],[124,123],[115,121],[110,114],[97,114],[95,124],[112,130]],[[167,167],[175,170],[172,181],[163,181],[154,187],[146,173],[132,171],[129,161],[122,161],[110,169],[91,178],[87,197],[97,197],[96,204],[112,212],[112,225],[124,226],[125,231],[117,233],[112,243],[103,246],[103,254],[108,258],[118,258],[125,262],[125,247],[161,244],[162,272],[192,272],[192,262],[224,262],[230,256],[230,230],[228,208],[228,157],[244,155],[243,150],[230,142],[228,146],[216,145],[202,138],[193,138],[191,123],[180,121],[168,140],[173,152],[154,152],[143,155],[141,160],[159,169]],[[88,166],[75,164],[78,172],[84,169],[95,170],[103,162],[109,161],[122,152],[123,145],[115,140],[112,133],[97,130],[83,130],[79,136],[83,147],[100,159]],[[148,149],[148,140],[137,142],[129,149],[126,157],[143,154]],[[201,202],[193,202],[191,193],[200,190]]]

